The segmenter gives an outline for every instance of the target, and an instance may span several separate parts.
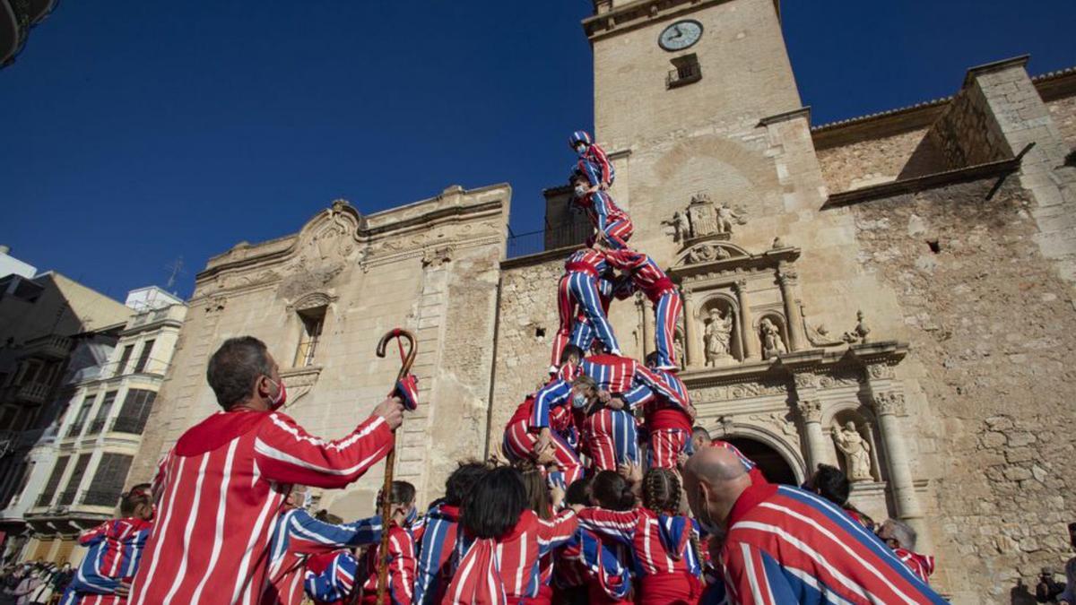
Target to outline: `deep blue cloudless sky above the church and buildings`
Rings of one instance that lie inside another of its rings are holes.
[[[966,68],[1076,65],[1071,0],[782,2],[822,124],[950,95]],[[587,0],[61,2],[0,71],[0,243],[117,298],[449,184],[508,182],[540,228],[593,122]]]

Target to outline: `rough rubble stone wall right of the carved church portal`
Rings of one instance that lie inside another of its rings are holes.
[[[1008,603],[1068,557],[1076,519],[1076,316],[1044,258],[1027,192],[989,179],[851,208],[862,270],[895,293],[926,396],[908,426],[929,478],[938,583],[958,603]],[[931,243],[937,242],[938,252]]]

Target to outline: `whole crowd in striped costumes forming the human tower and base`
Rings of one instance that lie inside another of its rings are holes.
[[[679,293],[629,247],[605,152],[582,131],[570,144],[594,234],[565,263],[549,378],[505,426],[507,464],[462,462],[423,515],[405,481],[379,495],[387,519],[311,515],[303,486],[343,488],[394,447],[404,393],[321,439],[280,411],[286,389],[265,344],[231,338],[207,371],[222,411],[124,495],[123,518],[87,534],[63,603],[943,602],[907,525],[887,523],[881,539],[841,508],[839,470],[771,484],[693,428],[672,348]],[[645,364],[608,321],[610,301],[636,291],[657,326]]]

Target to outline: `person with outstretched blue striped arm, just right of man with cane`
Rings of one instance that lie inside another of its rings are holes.
[[[269,553],[269,586],[261,593],[261,605],[299,605],[306,563],[312,555],[381,539],[381,517],[346,524],[330,522],[302,508],[307,493],[294,490],[287,497],[287,509],[277,518]]]

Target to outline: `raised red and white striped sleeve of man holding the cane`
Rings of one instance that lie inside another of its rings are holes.
[[[351,483],[392,449],[393,432],[380,416],[367,419],[342,439],[326,441],[274,412],[261,423],[254,440],[255,461],[264,477],[316,488]]]

